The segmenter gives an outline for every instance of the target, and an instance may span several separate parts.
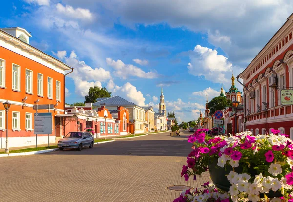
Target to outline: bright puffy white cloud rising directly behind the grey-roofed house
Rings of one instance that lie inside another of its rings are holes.
[[[108,82],[107,89],[112,92],[113,95],[118,95],[125,98],[129,102],[133,102],[139,106],[145,106],[146,99],[141,91],[137,91],[136,87],[127,82],[122,86],[117,86],[111,79]]]

